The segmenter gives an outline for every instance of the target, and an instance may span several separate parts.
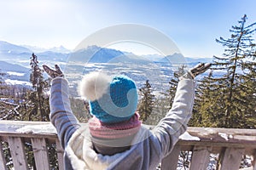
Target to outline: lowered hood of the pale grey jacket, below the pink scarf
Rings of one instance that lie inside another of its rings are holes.
[[[137,150],[137,144],[148,139],[152,133],[147,127],[141,127],[131,142],[130,150],[114,154],[112,156],[103,156],[96,153],[93,149],[93,143],[90,136],[90,130],[87,126],[80,127],[73,133],[66,147],[66,154],[74,170],[101,170],[114,167],[119,161],[128,156],[132,151]]]

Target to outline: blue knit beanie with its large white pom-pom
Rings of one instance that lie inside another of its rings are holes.
[[[90,114],[104,123],[127,121],[137,110],[137,87],[129,77],[91,72],[83,77],[79,93],[89,101]]]

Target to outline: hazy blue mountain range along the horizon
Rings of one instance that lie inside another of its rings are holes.
[[[159,54],[148,55],[136,55],[132,53],[122,52],[112,48],[100,48],[97,46],[89,46],[79,51],[72,52],[64,47],[59,48],[37,48],[28,45],[20,46],[9,42],[0,41],[0,60],[26,60],[29,59],[32,53],[36,53],[40,59],[43,60],[55,60],[66,61],[67,59],[73,59],[74,61],[89,61],[91,63],[107,63],[109,61],[119,62],[125,60],[151,60],[153,62],[183,62],[184,59],[191,63],[196,62],[211,62],[212,58],[188,58],[183,57],[183,54],[172,54],[168,56],[162,56]],[[114,59],[120,58],[120,59]]]

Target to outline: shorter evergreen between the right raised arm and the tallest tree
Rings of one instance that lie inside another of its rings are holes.
[[[221,112],[221,108],[223,107],[222,99],[224,96],[222,92],[223,88],[220,88],[218,83],[212,81],[212,71],[207,77],[203,77],[201,81],[198,81],[197,84],[193,115],[189,121],[189,126],[224,126],[225,117],[223,112]]]

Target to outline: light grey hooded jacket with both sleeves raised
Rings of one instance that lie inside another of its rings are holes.
[[[96,153],[87,125],[80,125],[70,107],[68,82],[56,77],[50,94],[50,120],[65,150],[65,169],[155,169],[186,131],[194,104],[195,82],[181,78],[172,109],[153,130],[142,127],[129,150],[104,156]]]

